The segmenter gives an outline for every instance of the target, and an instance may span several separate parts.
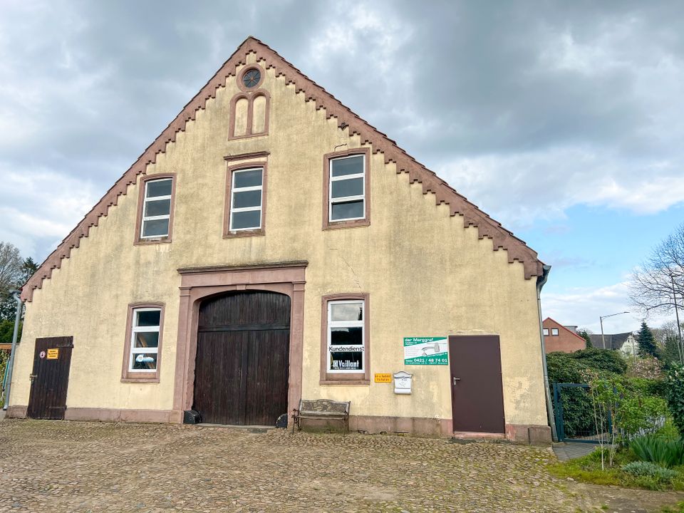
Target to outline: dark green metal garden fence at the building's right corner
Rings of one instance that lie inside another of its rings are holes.
[[[559,441],[594,444],[608,442],[608,433],[611,432],[610,412],[595,410],[591,388],[586,383],[554,383],[554,413]],[[596,413],[600,413],[606,423],[597,422]]]

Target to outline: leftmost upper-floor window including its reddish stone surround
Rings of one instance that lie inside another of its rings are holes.
[[[173,175],[145,177],[138,207],[137,243],[170,242],[174,197]]]

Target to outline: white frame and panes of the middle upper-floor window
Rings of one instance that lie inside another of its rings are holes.
[[[263,192],[263,167],[233,171],[230,187],[231,232],[261,228]]]

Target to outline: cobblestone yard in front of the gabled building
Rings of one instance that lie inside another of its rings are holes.
[[[4,420],[0,511],[601,511],[551,460],[493,442]]]

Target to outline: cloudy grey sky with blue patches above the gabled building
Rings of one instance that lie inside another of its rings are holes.
[[[249,35],[539,252],[544,317],[599,332],[684,222],[678,0],[3,0],[0,241],[47,257]]]

